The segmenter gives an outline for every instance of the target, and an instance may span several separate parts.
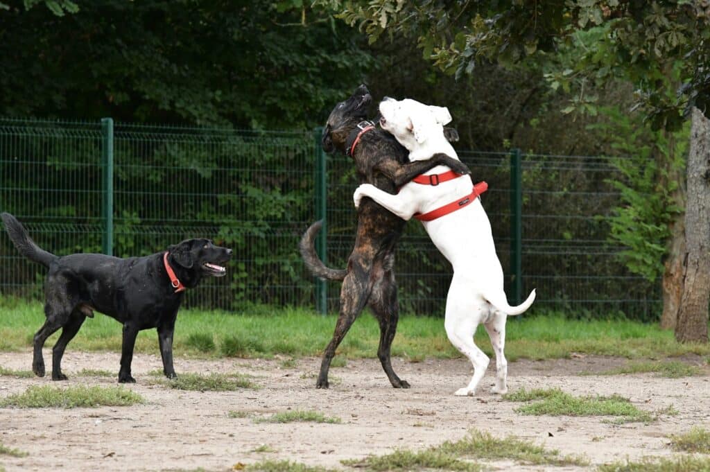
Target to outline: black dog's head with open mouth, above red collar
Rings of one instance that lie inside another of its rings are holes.
[[[182,268],[197,275],[226,275],[224,264],[231,258],[231,249],[214,246],[209,239],[187,239],[168,248],[170,257]]]

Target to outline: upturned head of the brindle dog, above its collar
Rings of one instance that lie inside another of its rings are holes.
[[[322,146],[326,153],[335,150],[345,153],[345,141],[353,128],[367,119],[367,109],[371,102],[370,91],[361,85],[349,99],[335,106],[323,128]]]

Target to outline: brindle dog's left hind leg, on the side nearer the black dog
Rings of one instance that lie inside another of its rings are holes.
[[[351,266],[351,270],[349,270],[348,275],[345,276],[340,289],[341,305],[338,322],[335,325],[333,338],[330,340],[330,343],[323,353],[323,360],[320,364],[320,374],[315,384],[316,388],[329,387],[328,371],[330,369],[330,361],[333,360],[335,350],[345,337],[350,326],[355,322],[357,316],[362,312],[370,296],[371,282],[368,278],[368,273],[371,269],[371,261],[351,259],[349,265]]]

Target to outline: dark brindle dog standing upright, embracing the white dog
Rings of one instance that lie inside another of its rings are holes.
[[[322,146],[327,153],[339,150],[351,155],[361,183],[368,182],[385,192],[395,193],[397,187],[437,165],[447,165],[462,174],[471,172],[459,160],[444,154],[410,163],[408,151],[390,133],[363,121],[371,100],[367,87],[361,85],[349,99],[335,106],[322,136]],[[329,280],[343,280],[340,314],[333,338],[323,353],[317,388],[328,388],[328,371],[335,350],[366,304],[380,324],[377,355],[382,368],[394,388],[409,388],[409,384],[395,374],[390,361],[390,346],[399,318],[394,250],[405,223],[373,200],[363,199],[358,209],[355,247],[346,270],[327,268],[318,258],[314,240],[322,226],[320,221],[303,235],[299,248],[311,273]]]

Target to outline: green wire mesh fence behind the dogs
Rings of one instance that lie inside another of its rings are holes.
[[[357,182],[351,160],[323,155],[318,136],[0,119],[0,211],[15,214],[41,247],[59,255],[144,256],[198,236],[234,249],[228,277],[187,292],[187,306],[333,312],[339,283],[316,282],[297,241],[324,216],[323,256],[344,268]],[[511,303],[537,287],[537,309],[658,317],[660,284],[630,275],[616,258],[623,248],[607,241],[604,216],[619,194],[606,181],[621,178],[609,158],[459,157],[474,180],[488,182],[482,200]],[[417,221],[407,225],[395,267],[400,311],[444,313],[451,268]],[[44,274],[0,234],[2,295],[40,297]]]

